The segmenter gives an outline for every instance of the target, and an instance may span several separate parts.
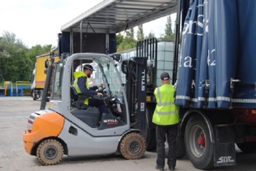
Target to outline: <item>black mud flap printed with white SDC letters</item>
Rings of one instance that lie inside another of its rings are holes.
[[[230,126],[216,126],[215,136],[214,165],[236,165],[237,161],[233,128]]]

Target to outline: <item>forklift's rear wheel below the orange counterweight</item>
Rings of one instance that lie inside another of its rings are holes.
[[[55,139],[42,141],[36,150],[37,159],[42,165],[58,164],[64,154],[62,144]]]

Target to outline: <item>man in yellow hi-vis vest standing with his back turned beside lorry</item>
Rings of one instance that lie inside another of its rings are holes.
[[[163,170],[165,164],[164,142],[169,145],[168,166],[169,170],[174,170],[176,166],[176,143],[177,130],[179,124],[179,107],[174,104],[175,87],[170,84],[170,76],[163,72],[160,76],[162,86],[154,91],[156,97],[156,109],[153,115],[153,123],[156,124],[157,141],[157,165],[156,169]]]

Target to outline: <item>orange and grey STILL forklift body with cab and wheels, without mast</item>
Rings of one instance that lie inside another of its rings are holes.
[[[98,108],[84,105],[88,94],[75,91],[74,68],[84,62],[93,63],[97,68],[95,74],[101,75],[102,100],[110,113],[100,113]],[[119,152],[126,159],[141,158],[146,150],[145,120],[133,119],[136,124],[130,121],[124,84],[116,66],[104,54],[80,53],[55,60],[51,100],[47,110],[30,115],[24,132],[26,151],[37,156],[43,165],[59,163],[63,154],[88,156]]]

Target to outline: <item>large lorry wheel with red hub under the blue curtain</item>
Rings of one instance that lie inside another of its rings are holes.
[[[199,169],[214,167],[214,144],[210,142],[210,133],[205,120],[192,116],[185,128],[185,149],[191,163]]]

